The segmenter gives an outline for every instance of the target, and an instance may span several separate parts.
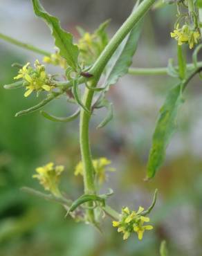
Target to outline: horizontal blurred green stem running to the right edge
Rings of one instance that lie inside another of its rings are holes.
[[[197,62],[197,66],[201,67],[202,62]],[[178,70],[178,66],[174,66]],[[194,69],[194,64],[187,64],[187,70]],[[167,67],[163,68],[129,68],[129,75],[168,75]]]

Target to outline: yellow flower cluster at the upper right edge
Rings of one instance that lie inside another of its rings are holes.
[[[197,44],[199,38],[201,37],[198,30],[193,30],[190,26],[184,25],[182,28],[179,28],[177,24],[176,29],[170,33],[171,37],[174,37],[178,41],[178,45],[189,44],[190,49],[194,47],[194,44]]]

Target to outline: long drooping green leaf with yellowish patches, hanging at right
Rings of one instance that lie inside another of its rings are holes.
[[[152,140],[152,148],[149,152],[147,164],[147,179],[151,179],[163,164],[165,150],[176,129],[178,109],[183,102],[181,96],[181,84],[172,88],[160,109],[160,114]]]

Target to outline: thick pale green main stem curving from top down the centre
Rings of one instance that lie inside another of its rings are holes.
[[[125,23],[120,27],[117,33],[112,37],[109,44],[107,44],[104,51],[102,51],[98,60],[96,60],[93,67],[89,70],[89,73],[93,75],[93,77],[89,80],[89,86],[92,88],[96,87],[98,81],[100,80],[100,76],[104,71],[105,66],[109,62],[111,56],[116,51],[122,40],[127,36],[132,28],[136,25],[136,23],[145,15],[145,13],[149,10],[154,3],[155,0],[145,0],[140,6],[136,9],[135,12],[132,12],[129,18],[125,21]],[[91,103],[93,100],[93,90],[85,89],[83,104],[91,111]],[[80,148],[82,154],[82,163],[84,166],[84,192],[86,194],[95,194],[95,183],[94,183],[94,174],[93,174],[93,163],[91,158],[91,147],[89,144],[89,121],[91,119],[91,115],[86,113],[84,109],[81,109],[80,113]],[[92,203],[89,203],[91,206]],[[93,209],[87,210],[87,219],[92,223],[95,223],[94,211]]]

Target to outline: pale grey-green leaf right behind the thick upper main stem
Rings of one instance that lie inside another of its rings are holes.
[[[107,65],[105,85],[116,84],[120,77],[128,73],[134,53],[136,53],[142,27],[143,19],[140,19],[129,35],[123,40],[122,44],[118,46]]]

